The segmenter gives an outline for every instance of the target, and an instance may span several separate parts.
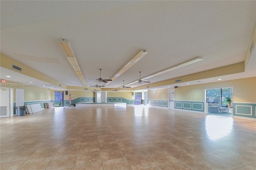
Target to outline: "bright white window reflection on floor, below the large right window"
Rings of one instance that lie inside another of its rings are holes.
[[[230,133],[233,126],[232,117],[208,115],[205,121],[208,136],[220,139]]]

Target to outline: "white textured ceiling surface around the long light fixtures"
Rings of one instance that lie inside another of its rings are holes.
[[[138,71],[146,77],[198,56],[204,60],[147,80],[154,83],[242,62],[256,22],[256,1],[1,1],[0,5],[1,53],[70,86],[82,83],[58,38],[69,40],[87,86],[96,84],[90,79],[100,77],[100,68],[102,78],[111,79],[140,49],[147,49],[145,57],[108,85],[111,88],[122,86],[123,80],[136,81]]]

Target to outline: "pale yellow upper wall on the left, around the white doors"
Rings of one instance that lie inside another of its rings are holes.
[[[34,86],[23,86],[19,85],[20,83],[6,81],[6,83],[10,83],[12,86],[0,86],[0,87],[9,87],[14,89],[13,101],[16,102],[16,89],[24,89],[24,101],[38,101],[38,100],[54,100],[54,92],[52,90],[44,89],[41,87],[34,87]],[[4,85],[4,83],[1,83]],[[18,86],[13,86],[13,84],[18,84]]]

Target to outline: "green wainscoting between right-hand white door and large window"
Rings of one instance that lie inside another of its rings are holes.
[[[174,101],[175,109],[204,112],[203,101]]]

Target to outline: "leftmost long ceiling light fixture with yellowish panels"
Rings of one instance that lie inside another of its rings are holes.
[[[79,65],[76,61],[76,57],[74,55],[74,52],[71,48],[70,43],[68,42],[68,40],[63,39],[63,38],[59,38],[58,40],[59,40],[60,46],[62,47],[64,53],[66,54],[66,57],[68,58],[68,61],[73,66],[74,70],[76,71],[76,74],[80,78],[83,85],[86,86],[86,83],[84,81],[84,77],[83,77],[82,72],[80,70],[80,67],[79,67]]]

